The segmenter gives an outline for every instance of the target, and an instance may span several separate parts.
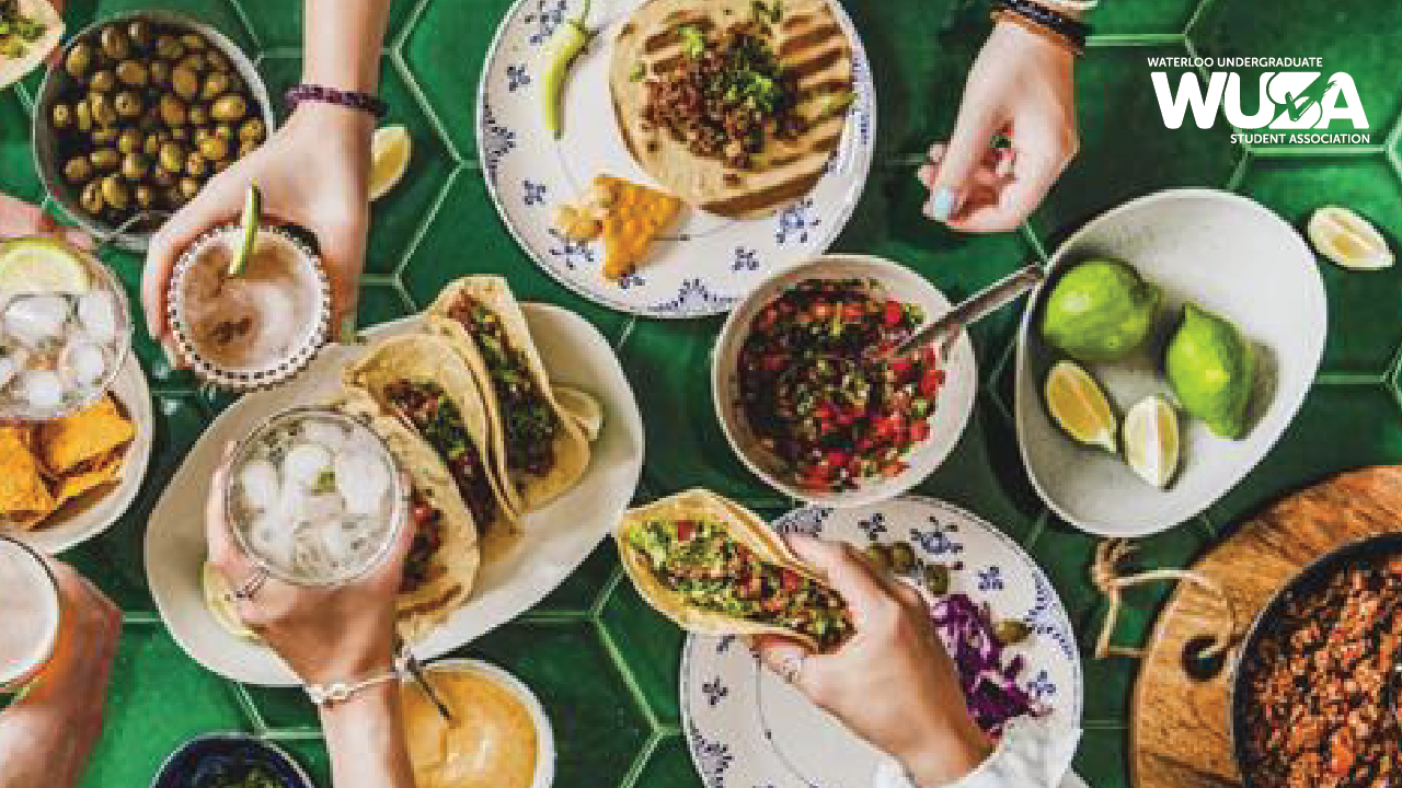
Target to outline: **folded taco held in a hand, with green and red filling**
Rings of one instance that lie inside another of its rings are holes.
[[[712,492],[634,509],[614,540],[638,593],[690,632],[778,634],[822,652],[852,634],[837,592],[757,515]]]

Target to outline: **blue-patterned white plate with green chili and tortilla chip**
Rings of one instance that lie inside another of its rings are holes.
[[[862,195],[876,142],[876,91],[866,50],[847,11],[833,11],[852,45],[857,100],[829,172],[775,216],[736,222],[687,208],[652,259],[621,280],[604,279],[603,243],[578,244],[554,230],[555,206],[578,201],[594,175],[638,184],[652,178],[628,153],[614,123],[608,59],[618,27],[645,0],[594,0],[589,27],[600,31],[571,69],[564,136],[541,119],[547,43],[583,0],[517,0],[488,53],[478,90],[478,161],[486,188],[516,241],[566,287],[615,310],[648,317],[701,317],[730,308],[758,282],[827,251]]]

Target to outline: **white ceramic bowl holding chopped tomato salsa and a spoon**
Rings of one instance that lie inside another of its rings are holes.
[[[822,506],[865,506],[890,501],[924,481],[945,461],[949,451],[959,443],[973,400],[979,388],[977,363],[973,344],[965,334],[945,359],[945,386],[935,401],[935,412],[930,418],[930,437],[917,444],[906,457],[906,473],[892,478],[873,478],[857,489],[845,492],[815,492],[784,481],[780,460],[764,450],[758,437],[750,429],[749,419],[740,407],[739,369],[740,349],[750,335],[756,315],[778,297],[787,287],[806,279],[875,279],[886,292],[900,301],[920,304],[927,318],[949,311],[949,299],[934,285],[914,271],[887,259],[868,255],[831,254],[810,262],[789,268],[756,287],[735,307],[721,328],[715,352],[711,355],[711,394],[715,398],[715,414],[730,447],[740,460],[774,489],[799,501]]]

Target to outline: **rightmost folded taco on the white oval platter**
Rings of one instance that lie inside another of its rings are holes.
[[[526,315],[499,276],[471,276],[429,307],[429,331],[447,338],[486,401],[492,453],[506,499],[533,512],[589,467],[589,439],[555,400]]]

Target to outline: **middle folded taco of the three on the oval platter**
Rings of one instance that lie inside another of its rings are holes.
[[[429,334],[387,339],[346,370],[345,383],[369,394],[443,461],[478,526],[482,559],[505,550],[520,513],[495,473],[482,394],[449,341]]]

